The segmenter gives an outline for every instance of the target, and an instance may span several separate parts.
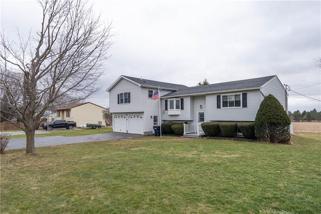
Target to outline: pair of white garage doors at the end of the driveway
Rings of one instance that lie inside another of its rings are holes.
[[[143,117],[141,114],[115,115],[113,118],[113,131],[131,134],[143,134]]]

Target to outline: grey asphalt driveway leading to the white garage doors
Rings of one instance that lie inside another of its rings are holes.
[[[127,138],[142,137],[142,136],[144,135],[110,132],[110,133],[104,133],[104,134],[93,134],[93,135],[83,135],[83,136],[35,137],[35,147],[70,144],[70,143],[83,143],[83,142],[102,141],[102,140],[127,139]],[[26,143],[27,143],[26,138],[11,139],[6,150],[26,148]]]

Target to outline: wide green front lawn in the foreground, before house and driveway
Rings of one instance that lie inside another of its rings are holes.
[[[321,138],[144,137],[1,155],[1,213],[321,213]]]

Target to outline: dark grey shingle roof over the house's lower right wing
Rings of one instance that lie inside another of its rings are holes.
[[[219,91],[232,91],[239,89],[250,89],[250,88],[260,88],[266,82],[271,80],[276,76],[268,76],[268,77],[260,77],[248,80],[238,80],[231,81],[225,83],[216,83],[204,86],[195,86],[189,87],[185,89],[181,89],[178,91],[171,92],[162,97],[172,97],[172,96],[181,96],[181,95],[189,95],[189,94],[202,94],[202,93],[210,93],[210,92],[219,92]]]

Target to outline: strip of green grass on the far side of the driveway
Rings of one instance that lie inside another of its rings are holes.
[[[46,131],[44,129],[40,129],[41,131]],[[21,130],[19,130],[21,131]],[[57,129],[57,130],[51,130],[48,131],[48,133],[42,133],[42,134],[35,134],[35,137],[45,137],[45,136],[81,136],[81,135],[91,135],[91,134],[102,134],[102,133],[109,133],[112,132],[111,127],[103,127],[100,129],[92,129],[92,128],[77,128],[77,129]],[[10,139],[15,138],[24,138],[26,137],[26,134],[22,135],[11,135]]]

